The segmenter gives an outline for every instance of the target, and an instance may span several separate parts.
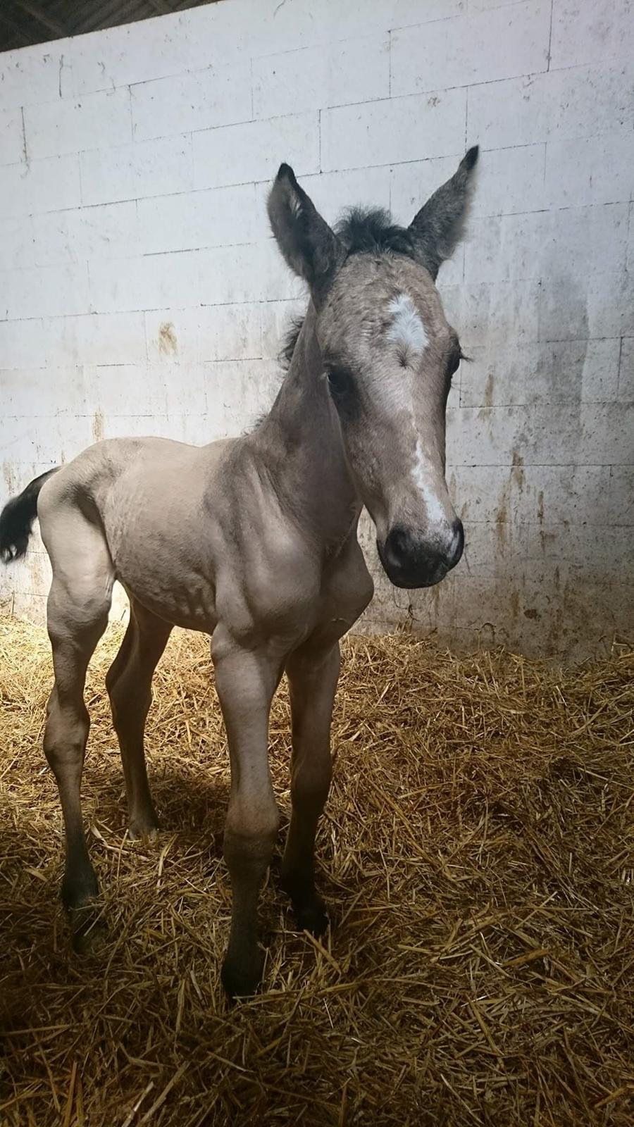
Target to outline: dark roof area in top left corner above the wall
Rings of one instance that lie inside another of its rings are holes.
[[[0,0],[0,51],[98,32],[214,0]]]

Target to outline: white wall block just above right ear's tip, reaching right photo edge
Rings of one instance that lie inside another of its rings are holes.
[[[469,137],[484,149],[585,140],[634,125],[632,65],[579,66],[469,89]]]

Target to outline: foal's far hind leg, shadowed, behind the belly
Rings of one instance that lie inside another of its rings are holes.
[[[152,676],[170,632],[168,622],[131,600],[130,623],[106,676],[123,761],[131,837],[153,836],[158,829],[146,771],[143,734],[152,701]]]

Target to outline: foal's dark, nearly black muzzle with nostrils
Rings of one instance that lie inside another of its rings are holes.
[[[465,531],[461,521],[454,521],[447,539],[447,545],[439,548],[437,541],[396,524],[384,544],[377,541],[381,564],[395,587],[432,587],[440,583],[463,554]]]

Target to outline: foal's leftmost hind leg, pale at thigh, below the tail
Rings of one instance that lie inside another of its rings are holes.
[[[83,703],[86,669],[103,635],[112,594],[112,564],[103,535],[73,509],[43,523],[53,565],[47,625],[55,681],[49,699],[44,752],[55,775],[65,828],[62,899],[71,914],[76,947],[86,946],[91,913],[80,909],[97,896],[97,878],[83,834],[80,784],[90,721]]]

